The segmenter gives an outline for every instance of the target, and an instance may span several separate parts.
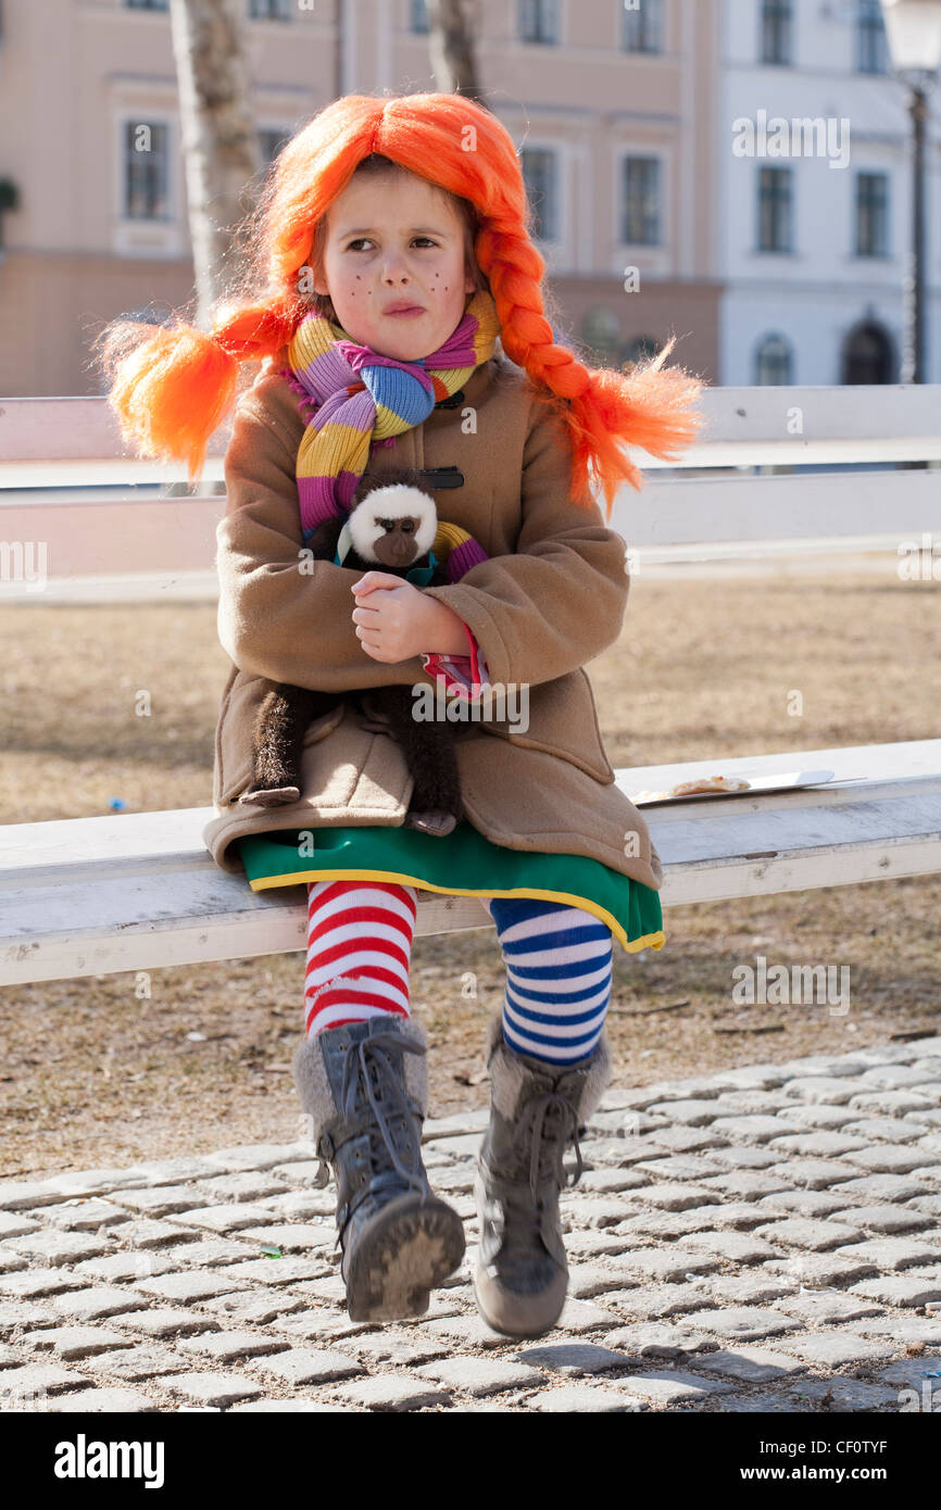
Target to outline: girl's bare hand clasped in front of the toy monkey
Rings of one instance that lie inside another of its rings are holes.
[[[387,571],[367,571],[352,584],[353,624],[367,655],[396,664],[412,655],[461,654],[467,634],[458,615],[420,587]]]

